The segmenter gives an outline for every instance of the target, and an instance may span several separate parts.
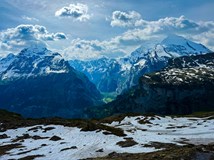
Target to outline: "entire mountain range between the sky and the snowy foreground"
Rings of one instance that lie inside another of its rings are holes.
[[[213,110],[213,59],[177,35],[120,59],[66,61],[35,45],[0,59],[0,108],[34,118]],[[103,105],[106,93],[118,96]]]

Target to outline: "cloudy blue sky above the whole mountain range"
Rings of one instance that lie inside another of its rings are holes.
[[[0,56],[44,43],[67,59],[120,57],[174,33],[214,47],[213,0],[1,0]]]

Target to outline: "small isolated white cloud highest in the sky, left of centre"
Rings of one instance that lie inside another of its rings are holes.
[[[70,4],[55,12],[56,17],[71,17],[74,20],[86,21],[90,19],[88,14],[88,6],[82,3]]]

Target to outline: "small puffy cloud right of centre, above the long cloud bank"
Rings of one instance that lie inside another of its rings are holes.
[[[136,11],[114,11],[112,13],[111,26],[135,27],[140,21],[141,15]]]

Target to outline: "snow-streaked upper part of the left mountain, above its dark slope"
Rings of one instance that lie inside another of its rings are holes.
[[[23,49],[17,55],[8,55],[0,60],[0,79],[67,73],[70,70],[69,67],[59,53],[36,45]]]

